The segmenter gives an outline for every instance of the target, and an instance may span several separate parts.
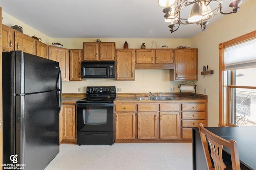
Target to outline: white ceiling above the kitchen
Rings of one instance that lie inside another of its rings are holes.
[[[224,12],[230,2],[223,0]],[[158,0],[1,0],[0,6],[51,38],[190,38],[201,32],[193,24],[171,33]],[[208,27],[223,17],[217,14]]]

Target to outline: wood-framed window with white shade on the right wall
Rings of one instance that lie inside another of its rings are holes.
[[[256,31],[219,45],[220,126],[256,126]]]

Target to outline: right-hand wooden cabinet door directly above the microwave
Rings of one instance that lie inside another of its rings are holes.
[[[114,61],[115,60],[115,43],[100,43],[100,60]]]

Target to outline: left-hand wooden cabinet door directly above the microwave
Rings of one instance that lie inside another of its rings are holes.
[[[97,61],[99,43],[83,43],[84,57],[83,61]]]

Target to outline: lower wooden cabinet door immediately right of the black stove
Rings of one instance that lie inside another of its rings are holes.
[[[135,139],[135,113],[115,113],[115,139]]]

